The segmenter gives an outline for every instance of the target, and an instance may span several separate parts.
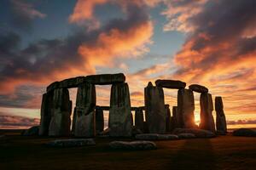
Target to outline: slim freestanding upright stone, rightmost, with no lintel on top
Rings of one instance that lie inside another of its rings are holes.
[[[220,96],[215,98],[215,111],[216,111],[216,128],[217,133],[227,133],[227,122],[224,114],[223,101]]]

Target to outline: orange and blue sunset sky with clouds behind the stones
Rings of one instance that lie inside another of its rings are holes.
[[[118,72],[132,106],[149,81],[181,80],[222,96],[229,127],[256,127],[255,0],[1,0],[0,16],[0,128],[38,124],[50,82]],[[96,93],[109,105],[110,86]]]

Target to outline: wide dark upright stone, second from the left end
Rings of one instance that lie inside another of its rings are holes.
[[[70,115],[72,101],[69,100],[67,88],[53,91],[52,116],[49,122],[49,136],[67,136],[70,134]]]

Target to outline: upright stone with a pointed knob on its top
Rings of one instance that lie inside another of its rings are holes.
[[[164,91],[151,82],[144,88],[146,122],[149,133],[166,133],[166,108]]]

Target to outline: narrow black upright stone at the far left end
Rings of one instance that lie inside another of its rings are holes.
[[[42,105],[41,105],[41,119],[39,127],[39,135],[48,135],[49,133],[49,122],[51,119],[53,102],[53,93],[43,94]]]

